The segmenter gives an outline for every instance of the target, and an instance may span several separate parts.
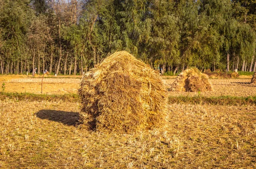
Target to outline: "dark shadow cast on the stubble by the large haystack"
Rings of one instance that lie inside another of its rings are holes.
[[[36,116],[41,119],[57,121],[68,126],[76,126],[79,122],[78,112],[66,112],[59,110],[39,110]]]

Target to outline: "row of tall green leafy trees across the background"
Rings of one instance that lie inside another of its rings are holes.
[[[0,73],[82,74],[128,51],[163,71],[255,71],[256,0],[0,0]]]

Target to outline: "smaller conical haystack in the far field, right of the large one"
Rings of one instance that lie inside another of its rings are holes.
[[[189,68],[184,70],[177,76],[175,82],[170,88],[172,91],[211,91],[212,85],[209,82],[207,74],[201,73],[197,68]]]

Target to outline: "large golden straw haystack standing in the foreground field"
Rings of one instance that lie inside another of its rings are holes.
[[[115,52],[82,77],[80,121],[118,132],[160,126],[165,122],[166,96],[156,70],[126,51]]]

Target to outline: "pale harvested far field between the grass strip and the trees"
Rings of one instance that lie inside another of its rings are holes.
[[[1,77],[1,76],[0,76]],[[164,82],[172,85],[175,79],[166,79]],[[171,76],[172,77],[172,76]],[[31,82],[32,81],[32,82]],[[256,85],[250,84],[251,79],[209,79],[213,91],[201,92],[201,96],[255,96]],[[77,93],[80,79],[76,78],[45,78],[43,93],[67,94]],[[0,82],[1,83],[1,82]],[[1,85],[1,84],[0,84]],[[16,78],[5,81],[6,92],[41,93],[41,78]],[[1,89],[0,89],[1,90]],[[198,92],[169,92],[171,96],[198,96]]]

